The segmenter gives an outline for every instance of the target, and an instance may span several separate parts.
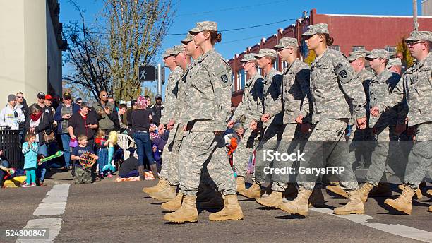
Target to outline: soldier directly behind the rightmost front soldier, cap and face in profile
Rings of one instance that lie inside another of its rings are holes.
[[[400,76],[397,73],[392,73],[385,67],[388,63],[389,56],[390,54],[385,49],[373,49],[371,54],[366,56],[369,64],[371,64],[371,68],[376,73],[376,76],[371,80],[368,88],[369,108],[380,104],[380,102],[383,102],[387,97],[390,97],[393,88],[400,80]],[[392,153],[389,153],[390,132],[395,131],[395,120],[398,115],[400,115],[398,122],[402,123],[402,126],[404,126],[406,112],[400,112],[398,114],[396,109],[389,109],[380,114],[380,117],[368,116],[368,127],[375,141],[371,144],[371,165],[368,167],[365,183],[359,189],[360,198],[363,202],[366,202],[369,192],[371,192],[374,187],[378,186],[378,182],[380,182],[385,172],[386,160],[392,155]],[[392,127],[392,131],[390,131],[390,127]],[[396,158],[393,159],[396,160]],[[384,188],[381,189],[383,194],[391,196],[390,186],[388,186],[388,184],[381,184],[381,188]]]

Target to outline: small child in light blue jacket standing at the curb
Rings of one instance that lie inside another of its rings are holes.
[[[23,187],[34,187],[36,186],[36,169],[37,169],[37,147],[36,135],[33,133],[25,136],[25,143],[23,143],[23,154],[24,154],[24,170],[26,175],[26,182]]]

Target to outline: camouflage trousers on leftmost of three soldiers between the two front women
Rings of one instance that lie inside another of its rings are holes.
[[[236,161],[234,167],[238,177],[246,177],[253,148],[258,144],[259,133],[258,129],[246,129],[239,146],[237,146],[236,152],[234,153],[234,161]]]

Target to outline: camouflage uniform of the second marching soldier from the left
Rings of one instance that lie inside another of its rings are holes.
[[[170,54],[179,54],[183,49],[183,45],[174,47]],[[171,119],[176,120],[176,104],[179,103],[179,97],[177,96],[177,90],[179,80],[181,78],[180,74],[183,70],[176,66],[176,68],[169,73],[167,88],[165,90],[165,107],[162,117],[160,118],[160,124],[168,124]],[[167,146],[164,147],[162,169],[160,171],[160,177],[162,179],[167,179],[169,184],[178,185],[179,175],[177,171],[178,154],[180,150],[179,136],[183,136],[179,125],[175,124],[171,133],[169,134]]]

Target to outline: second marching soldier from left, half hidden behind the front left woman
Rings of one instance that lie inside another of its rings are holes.
[[[152,191],[149,196],[159,201],[170,201],[176,197],[177,186],[179,185],[179,173],[177,170],[177,163],[179,162],[179,151],[181,141],[183,139],[183,129],[179,126],[179,114],[177,112],[177,105],[181,103],[181,97],[177,94],[181,73],[183,69],[176,64],[176,57],[181,52],[184,52],[184,45],[176,45],[171,56],[174,58],[175,68],[171,70],[168,78],[167,89],[165,90],[165,107],[164,113],[160,119],[159,131],[163,131],[166,126],[171,132],[168,137],[167,146],[164,147],[164,157],[162,162],[162,170],[160,177],[167,179],[168,185],[160,191]]]

